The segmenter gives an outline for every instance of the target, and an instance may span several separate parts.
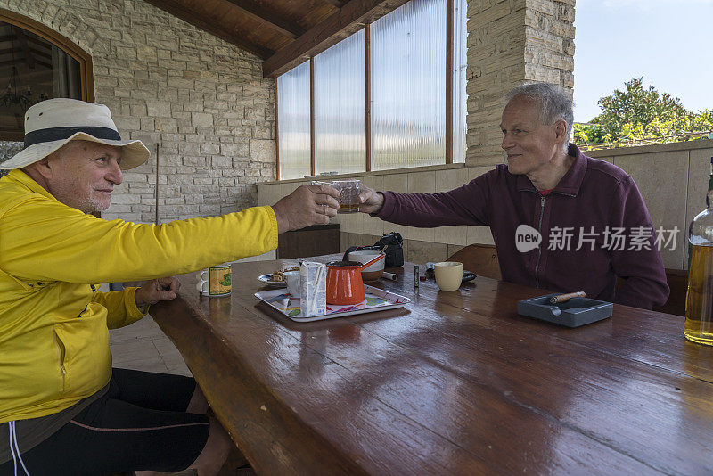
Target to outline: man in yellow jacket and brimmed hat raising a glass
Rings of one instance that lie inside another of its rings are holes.
[[[0,476],[208,475],[225,461],[232,443],[193,379],[112,372],[108,330],[176,297],[178,281],[161,276],[265,253],[279,233],[327,223],[339,193],[300,187],[273,207],[161,226],[94,217],[122,170],[148,157],[121,140],[106,106],[52,99],[29,108],[25,148],[1,164],[12,170],[0,179]]]

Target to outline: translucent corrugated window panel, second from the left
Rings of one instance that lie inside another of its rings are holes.
[[[364,172],[364,30],[315,56],[316,172]]]

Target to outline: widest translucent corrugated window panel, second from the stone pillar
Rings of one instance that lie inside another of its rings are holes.
[[[446,161],[446,0],[412,0],[371,27],[372,169]]]

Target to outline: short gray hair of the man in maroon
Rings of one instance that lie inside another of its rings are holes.
[[[574,111],[565,89],[549,83],[525,83],[505,94],[503,103],[507,106],[512,100],[520,98],[539,104],[540,121],[544,124],[552,125],[560,119],[567,123],[567,140],[564,141],[564,152],[567,152],[574,124]]]

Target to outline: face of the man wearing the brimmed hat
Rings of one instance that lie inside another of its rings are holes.
[[[121,149],[113,145],[71,141],[48,158],[49,192],[65,205],[94,213],[109,208],[114,185],[123,181]]]

